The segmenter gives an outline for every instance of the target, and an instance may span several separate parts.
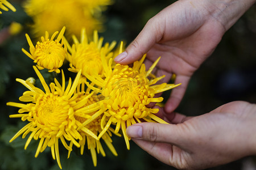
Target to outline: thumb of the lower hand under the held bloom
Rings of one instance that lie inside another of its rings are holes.
[[[150,142],[164,142],[179,146],[187,136],[179,124],[143,122],[126,129],[129,137]]]

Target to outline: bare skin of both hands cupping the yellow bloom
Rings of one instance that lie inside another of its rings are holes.
[[[174,112],[192,74],[254,3],[177,1],[148,20],[126,51],[115,58],[117,63],[130,64],[147,53],[145,65],[149,67],[161,56],[154,73],[166,75],[163,82],[176,74],[175,83],[182,83],[158,113],[172,124],[147,122],[127,128],[127,135],[156,159],[179,169],[204,169],[255,154],[254,104],[236,101],[193,118]]]

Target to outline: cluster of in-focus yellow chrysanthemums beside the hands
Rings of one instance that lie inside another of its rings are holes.
[[[26,104],[7,103],[20,108],[18,114],[10,117],[20,117],[28,124],[10,142],[19,135],[25,138],[30,133],[25,149],[32,138],[39,140],[35,157],[48,146],[51,148],[52,158],[57,160],[60,168],[59,142],[68,150],[68,157],[73,145],[80,147],[81,155],[87,145],[96,166],[97,153],[105,156],[101,140],[117,156],[112,144],[112,134],[121,136],[119,131],[122,131],[129,149],[129,137],[126,135],[128,126],[141,121],[166,124],[155,116],[158,109],[147,108],[146,105],[162,101],[163,97],[154,98],[155,94],[179,84],[156,84],[164,78],[151,74],[160,58],[148,71],[143,63],[146,54],[140,61],[134,62],[133,67],[115,64],[115,41],[103,45],[103,38],[98,37],[97,31],[94,31],[93,40],[89,41],[85,29],[82,29],[80,41],[73,36],[71,45],[64,38],[64,32],[65,27],[60,33],[53,33],[51,38],[46,32],[46,36],[35,46],[26,35],[30,52],[22,50],[36,63],[33,67],[44,89],[35,87],[34,79],[16,79],[28,88],[19,98]],[[122,49],[121,42],[119,53],[122,53]],[[69,62],[68,70],[77,73],[73,81],[69,78],[66,82],[64,71],[60,70],[65,59]],[[61,73],[62,80],[55,78],[54,82],[47,84],[38,69]]]

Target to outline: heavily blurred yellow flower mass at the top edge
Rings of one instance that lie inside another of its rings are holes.
[[[111,4],[111,0],[27,0],[24,10],[34,20],[32,29],[36,36],[43,35],[44,30],[53,33],[65,26],[69,39],[73,34],[79,36],[84,27],[89,35],[94,29],[101,30],[100,11]]]

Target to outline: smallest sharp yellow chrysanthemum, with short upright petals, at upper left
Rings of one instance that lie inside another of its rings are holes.
[[[22,51],[37,63],[39,70],[48,69],[49,72],[56,71],[60,73],[59,67],[63,65],[64,59],[67,56],[67,46],[64,44],[63,35],[65,27],[59,32],[53,33],[51,39],[46,31],[46,37],[41,37],[42,42],[37,42],[36,46],[32,44],[30,37],[26,34],[27,42],[30,45],[30,53],[22,48]],[[55,36],[57,39],[53,40]],[[61,42],[60,42],[61,41]]]

